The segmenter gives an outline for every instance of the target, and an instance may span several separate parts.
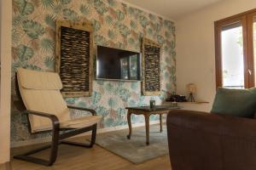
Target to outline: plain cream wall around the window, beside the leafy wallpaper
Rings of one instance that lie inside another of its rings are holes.
[[[177,20],[177,94],[195,83],[196,99],[209,101],[204,110],[210,111],[216,92],[214,21],[253,8],[255,0],[224,0]]]

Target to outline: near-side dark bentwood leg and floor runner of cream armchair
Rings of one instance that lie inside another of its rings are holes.
[[[58,153],[58,144],[59,144],[59,130],[54,129],[51,144],[48,144],[44,147],[40,147],[35,150],[30,150],[30,151],[26,152],[25,154],[14,156],[14,158],[22,160],[22,161],[29,161],[32,163],[37,163],[37,164],[44,165],[44,166],[51,166],[56,161],[56,157],[57,157],[57,153]],[[30,156],[32,154],[38,153],[39,151],[47,150],[49,148],[50,148],[49,160],[44,160],[41,158]]]

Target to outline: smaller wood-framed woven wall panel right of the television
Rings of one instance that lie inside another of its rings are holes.
[[[161,45],[143,37],[143,95],[160,95],[160,56]]]

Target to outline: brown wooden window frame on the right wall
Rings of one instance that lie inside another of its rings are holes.
[[[244,87],[253,88],[255,85],[253,65],[253,17],[256,16],[256,8],[247,12],[236,14],[214,22],[215,33],[215,74],[216,88],[223,87],[222,78],[222,48],[221,28],[230,24],[241,22],[243,37],[243,60],[244,60]],[[250,71],[250,73],[249,73]]]

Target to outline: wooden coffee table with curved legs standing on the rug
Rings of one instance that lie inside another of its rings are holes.
[[[162,115],[168,114],[169,111],[174,109],[180,109],[178,106],[172,105],[156,105],[154,108],[150,108],[149,106],[141,106],[141,107],[126,107],[128,110],[127,113],[127,121],[129,125],[129,134],[127,135],[127,139],[131,139],[131,114],[135,115],[143,115],[145,117],[145,127],[146,127],[146,144],[149,144],[149,116],[150,115],[160,115],[160,133],[163,131],[162,127]]]

